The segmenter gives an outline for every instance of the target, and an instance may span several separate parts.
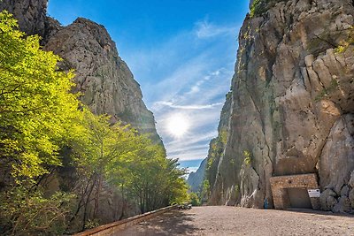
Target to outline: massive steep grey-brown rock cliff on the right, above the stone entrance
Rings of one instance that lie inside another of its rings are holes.
[[[252,1],[210,203],[272,207],[272,176],[315,173],[322,209],[354,209],[353,5]]]

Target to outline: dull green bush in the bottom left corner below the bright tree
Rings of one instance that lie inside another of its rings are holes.
[[[39,190],[14,187],[0,194],[0,233],[4,235],[61,235],[67,225],[73,194],[56,193],[49,199]],[[8,199],[11,198],[11,201]]]

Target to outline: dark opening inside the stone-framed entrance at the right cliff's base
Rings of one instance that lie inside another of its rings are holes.
[[[290,208],[312,209],[311,200],[306,188],[288,188]]]

